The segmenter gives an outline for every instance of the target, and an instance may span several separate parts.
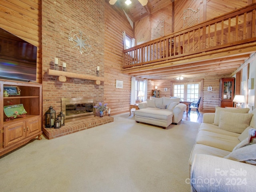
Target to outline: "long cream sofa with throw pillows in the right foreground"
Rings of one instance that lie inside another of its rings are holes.
[[[256,110],[248,111],[203,114],[189,160],[191,191],[256,191]]]

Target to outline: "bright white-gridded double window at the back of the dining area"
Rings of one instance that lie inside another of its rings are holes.
[[[200,83],[174,84],[173,96],[182,101],[196,101],[199,98]]]

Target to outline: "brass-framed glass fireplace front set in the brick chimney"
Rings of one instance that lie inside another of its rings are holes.
[[[93,98],[62,98],[61,110],[65,114],[65,119],[81,118],[94,115]]]

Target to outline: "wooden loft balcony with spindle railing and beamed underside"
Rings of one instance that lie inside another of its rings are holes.
[[[180,74],[232,75],[253,52],[256,3],[124,50],[123,73],[149,80]],[[210,65],[223,60],[227,64],[219,63],[218,68]]]

